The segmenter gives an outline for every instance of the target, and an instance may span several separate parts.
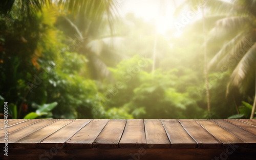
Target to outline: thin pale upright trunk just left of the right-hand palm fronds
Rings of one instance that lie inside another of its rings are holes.
[[[205,85],[206,85],[206,97],[207,97],[207,109],[210,112],[210,93],[209,93],[209,83],[208,83],[208,67],[207,67],[207,37],[206,37],[206,26],[205,26],[205,15],[204,8],[202,7],[203,16],[203,32],[204,32],[204,75],[205,75]]]

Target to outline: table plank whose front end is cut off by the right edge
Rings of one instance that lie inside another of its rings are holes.
[[[216,119],[212,121],[214,121],[224,129],[228,130],[231,134],[239,137],[244,142],[248,143],[249,148],[256,147],[256,136],[252,135],[250,132],[245,131],[242,128],[222,119]]]

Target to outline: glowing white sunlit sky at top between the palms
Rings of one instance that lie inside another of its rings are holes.
[[[183,28],[202,17],[201,10],[194,10],[186,6],[180,15],[176,18],[173,14],[176,7],[179,7],[186,0],[117,0],[120,3],[121,9],[120,14],[125,15],[126,13],[133,12],[135,16],[141,17],[146,21],[157,19],[157,33],[164,34],[168,29],[176,29],[176,36],[182,33]],[[221,0],[229,2],[231,0]],[[195,6],[201,8],[202,6]],[[159,12],[160,10],[160,12]],[[184,18],[185,17],[185,18]],[[184,22],[184,19],[186,19]]]

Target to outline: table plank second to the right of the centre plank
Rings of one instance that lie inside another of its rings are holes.
[[[162,119],[172,148],[196,148],[197,143],[187,134],[177,119]]]

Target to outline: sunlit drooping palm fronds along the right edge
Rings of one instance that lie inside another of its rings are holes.
[[[208,67],[210,69],[216,66],[222,71],[231,70],[227,91],[230,87],[236,87],[241,93],[248,93],[255,83],[253,79],[256,70],[256,1],[212,2],[221,5],[207,7],[225,17],[219,19],[211,31],[216,36],[211,36],[208,42],[219,41],[222,47],[211,59]],[[253,118],[255,105],[256,89],[250,119]]]

